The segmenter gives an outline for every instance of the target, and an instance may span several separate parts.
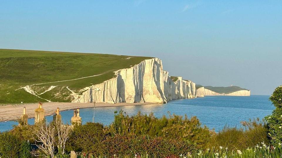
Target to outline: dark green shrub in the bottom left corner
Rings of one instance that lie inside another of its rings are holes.
[[[31,146],[25,140],[9,132],[0,133],[1,158],[29,158]]]

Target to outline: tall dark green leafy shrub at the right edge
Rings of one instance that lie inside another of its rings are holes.
[[[269,100],[276,109],[271,115],[265,117],[269,130],[268,136],[271,138],[271,143],[282,143],[282,86],[274,90]]]

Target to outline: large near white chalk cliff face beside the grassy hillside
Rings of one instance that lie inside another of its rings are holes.
[[[163,71],[162,61],[158,58],[144,60],[131,68],[121,69],[115,73],[115,78],[85,87],[81,95],[74,94],[72,102],[163,104],[172,99],[196,97],[195,83],[184,81],[182,77],[178,77],[178,80],[173,82],[168,72]]]

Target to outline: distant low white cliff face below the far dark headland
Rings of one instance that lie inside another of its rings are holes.
[[[197,89],[197,97],[204,97],[209,95],[227,95],[227,96],[250,96],[251,91],[250,90],[239,90],[232,93],[217,93],[208,89],[205,89],[204,87],[200,87]]]

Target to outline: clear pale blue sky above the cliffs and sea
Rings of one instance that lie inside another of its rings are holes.
[[[0,48],[162,59],[170,75],[269,95],[282,1],[0,1]]]

